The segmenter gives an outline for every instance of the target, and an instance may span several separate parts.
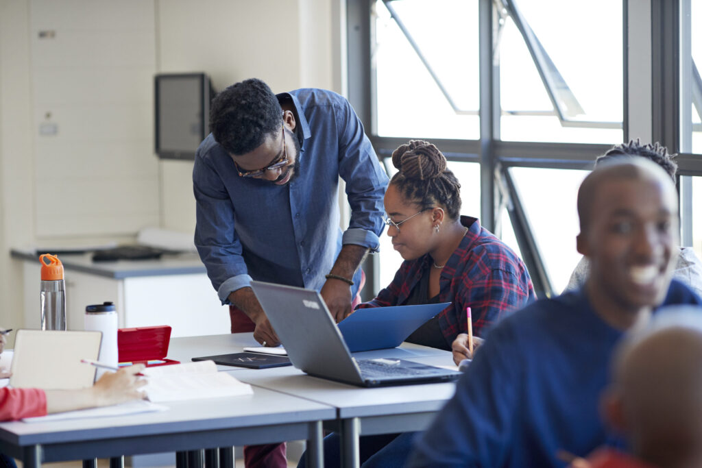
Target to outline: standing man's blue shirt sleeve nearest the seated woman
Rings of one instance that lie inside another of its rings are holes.
[[[383,233],[383,196],[388,187],[388,174],[380,166],[363,124],[350,103],[335,108],[339,135],[339,175],[346,182],[346,195],[351,206],[349,227],[343,243],[352,243],[378,251]]]

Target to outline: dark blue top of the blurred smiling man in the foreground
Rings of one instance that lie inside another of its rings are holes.
[[[663,305],[701,304],[673,281]],[[623,332],[582,290],[538,300],[498,323],[411,456],[411,467],[564,467],[607,443],[600,394]]]

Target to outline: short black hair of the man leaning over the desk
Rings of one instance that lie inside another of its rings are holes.
[[[251,78],[216,95],[210,110],[210,131],[228,153],[246,154],[262,145],[266,135],[280,133],[282,114],[268,85]]]

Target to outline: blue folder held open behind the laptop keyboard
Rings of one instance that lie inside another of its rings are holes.
[[[339,330],[352,353],[394,348],[449,305],[451,302],[357,309],[339,322]]]

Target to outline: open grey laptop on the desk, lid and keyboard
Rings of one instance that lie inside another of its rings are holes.
[[[360,387],[446,382],[461,375],[402,359],[355,359],[317,291],[261,281],[252,281],[251,288],[293,366],[307,374]]]

